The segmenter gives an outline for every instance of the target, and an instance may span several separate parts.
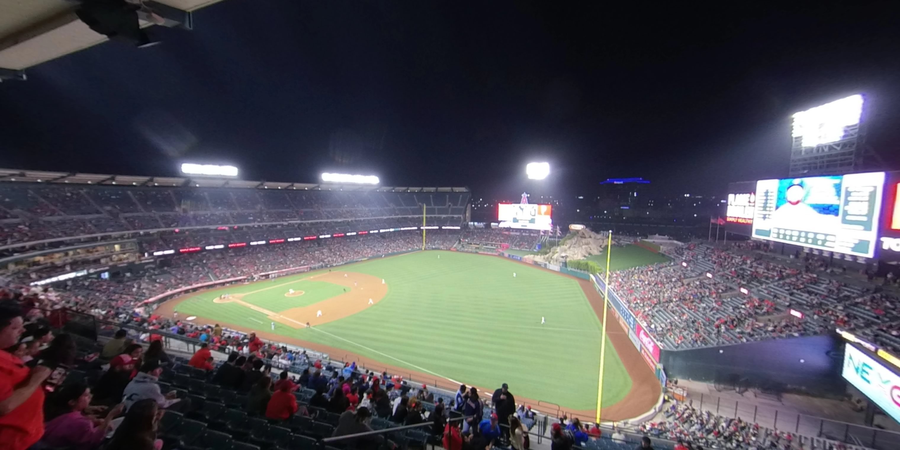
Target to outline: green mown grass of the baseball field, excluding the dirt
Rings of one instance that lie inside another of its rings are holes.
[[[516,395],[575,410],[596,408],[600,321],[576,280],[500,257],[449,251],[377,258],[341,270],[384,278],[387,295],[345,319],[313,329],[276,324],[275,333],[462,383],[486,388],[509,383]],[[275,284],[291,284],[243,300],[284,311],[300,299],[335,295],[334,284],[303,280],[315,274],[279,278]],[[257,291],[269,283],[229,288],[229,293]],[[306,293],[285,298],[290,288]],[[212,303],[220,293],[197,293],[177,311],[182,317],[268,330],[265,314]],[[624,398],[632,383],[609,342],[607,349],[606,406]]]

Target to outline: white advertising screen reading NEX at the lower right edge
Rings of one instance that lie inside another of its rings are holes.
[[[900,421],[900,375],[849,344],[844,346],[842,375],[888,416]]]

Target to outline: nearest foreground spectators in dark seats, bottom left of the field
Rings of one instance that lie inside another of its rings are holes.
[[[166,354],[158,335],[150,335],[145,346],[125,329],[102,347],[78,349],[72,336],[50,331],[45,311],[35,309],[43,300],[34,293],[0,292],[0,442],[11,450],[210,447],[204,445],[206,435],[187,437],[175,430],[172,424],[183,419],[216,430],[221,448],[232,442],[276,446],[299,437],[315,442],[428,424],[418,435],[387,436],[419,439],[422,446],[458,437],[459,444],[479,444],[473,450],[494,445],[526,450],[525,434],[536,419],[530,408],[517,410],[506,384],[494,392],[491,409],[475,388],[462,386],[459,399],[436,395],[398,375],[359,370],[356,363],[334,366],[253,333],[230,335],[218,325],[166,321],[173,328],[168,331],[202,340],[190,359]],[[151,317],[148,323],[162,322]],[[211,350],[229,354],[227,361],[216,364]],[[277,370],[284,363],[291,373]],[[471,418],[451,420],[464,414]],[[461,433],[464,423],[469,427]],[[385,435],[345,444],[398,447]]]

